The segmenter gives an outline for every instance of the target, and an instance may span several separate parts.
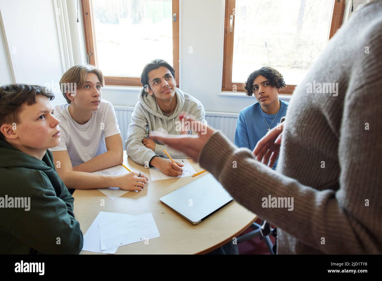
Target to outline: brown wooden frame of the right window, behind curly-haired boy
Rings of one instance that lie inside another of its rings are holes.
[[[232,63],[233,63],[233,35],[235,32],[235,15],[234,11],[236,0],[225,0],[225,21],[224,21],[224,55],[223,55],[223,80],[222,90],[232,91],[236,86],[236,92],[245,92],[242,83],[232,82]],[[341,27],[343,12],[345,10],[345,0],[334,0],[332,19],[330,20],[329,39],[333,37],[335,32]],[[230,13],[228,13],[230,11]],[[233,15],[232,32],[230,30],[229,16]],[[279,94],[291,95],[295,90],[296,84],[287,84],[285,88],[278,92]]]

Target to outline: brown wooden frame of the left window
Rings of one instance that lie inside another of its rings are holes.
[[[93,1],[82,0],[82,11],[84,18],[87,60],[89,64],[98,67],[97,44],[94,32]],[[172,66],[175,70],[176,87],[179,87],[179,0],[172,0],[172,15],[174,13],[176,14],[176,21],[172,22]],[[142,86],[140,77],[104,76],[104,79],[105,85]]]

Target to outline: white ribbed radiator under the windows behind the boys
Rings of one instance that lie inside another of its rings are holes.
[[[131,113],[133,113],[134,107],[126,107],[123,105],[114,105],[115,114],[117,115],[118,125],[121,130],[123,147],[125,147],[125,140],[127,139],[127,130],[131,121]],[[216,112],[206,111],[207,123],[218,129],[225,134],[228,139],[233,142],[235,137],[236,123],[238,120],[238,113]]]

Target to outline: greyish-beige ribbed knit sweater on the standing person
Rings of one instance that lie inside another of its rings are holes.
[[[317,93],[326,90],[317,83],[338,83],[337,93]],[[375,0],[337,31],[296,87],[276,171],[220,132],[200,165],[277,226],[278,254],[381,254],[381,99],[382,1]],[[293,197],[293,210],[263,208],[269,195]]]

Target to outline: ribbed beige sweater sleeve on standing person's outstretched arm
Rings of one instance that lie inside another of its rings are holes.
[[[381,241],[376,239],[379,235],[376,231],[380,230],[377,217],[381,216],[381,207],[377,202],[382,199],[379,188],[382,183],[380,178],[372,176],[375,171],[367,172],[366,168],[354,173],[350,169],[343,173],[341,188],[337,192],[329,189],[336,182],[318,191],[255,161],[250,150],[235,147],[220,132],[207,142],[199,162],[238,203],[305,244],[328,254],[382,252]],[[368,178],[366,184],[362,184],[367,186],[367,193],[361,198],[360,182],[352,182],[359,173],[363,174],[362,178]],[[350,194],[344,194],[345,191],[350,191]],[[293,210],[262,208],[262,198],[268,198],[268,195],[293,197]],[[366,197],[373,198],[374,207],[364,205]],[[325,244],[321,244],[322,237]]]

